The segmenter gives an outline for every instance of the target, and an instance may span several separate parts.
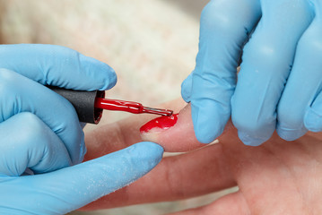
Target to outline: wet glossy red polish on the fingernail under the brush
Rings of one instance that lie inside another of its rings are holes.
[[[155,119],[152,119],[147,124],[143,125],[140,128],[141,133],[147,133],[153,128],[160,128],[162,130],[166,130],[173,125],[175,125],[178,121],[178,114],[172,115],[172,116],[161,116]]]

